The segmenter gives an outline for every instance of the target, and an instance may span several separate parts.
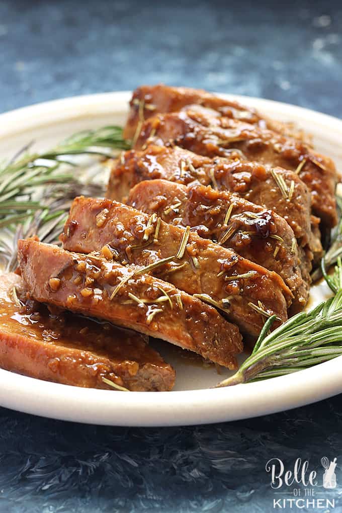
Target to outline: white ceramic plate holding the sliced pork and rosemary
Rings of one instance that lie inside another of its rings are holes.
[[[0,155],[28,142],[52,147],[77,130],[123,125],[129,92],[95,94],[33,105],[0,115]],[[342,169],[342,121],[300,107],[237,97],[274,119],[292,121],[314,136],[316,148]],[[310,306],[328,297],[324,283],[312,288]],[[243,419],[294,408],[342,391],[342,357],[268,381],[210,388],[227,373],[204,368],[168,344],[158,348],[177,371],[172,392],[118,392],[39,381],[0,369],[0,405],[45,417],[121,426],[170,426]]]

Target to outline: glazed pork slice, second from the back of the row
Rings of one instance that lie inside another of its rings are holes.
[[[171,142],[209,157],[235,158],[242,153],[245,160],[295,171],[311,192],[313,214],[328,229],[337,223],[334,163],[304,143],[204,108],[150,118],[142,125],[135,149],[144,148],[151,137],[158,144]]]

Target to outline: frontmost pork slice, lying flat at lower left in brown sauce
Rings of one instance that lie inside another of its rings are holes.
[[[147,337],[29,299],[23,280],[0,276],[0,367],[32,378],[90,388],[171,390],[175,372]]]

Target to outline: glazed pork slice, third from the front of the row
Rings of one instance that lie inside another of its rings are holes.
[[[103,254],[121,263],[146,267],[171,259],[151,272],[190,294],[204,294],[254,337],[265,315],[275,313],[281,321],[287,319],[292,293],[278,274],[195,232],[187,234],[181,227],[159,221],[156,215],[80,196],[72,203],[61,239],[66,249],[90,253],[103,248]]]

